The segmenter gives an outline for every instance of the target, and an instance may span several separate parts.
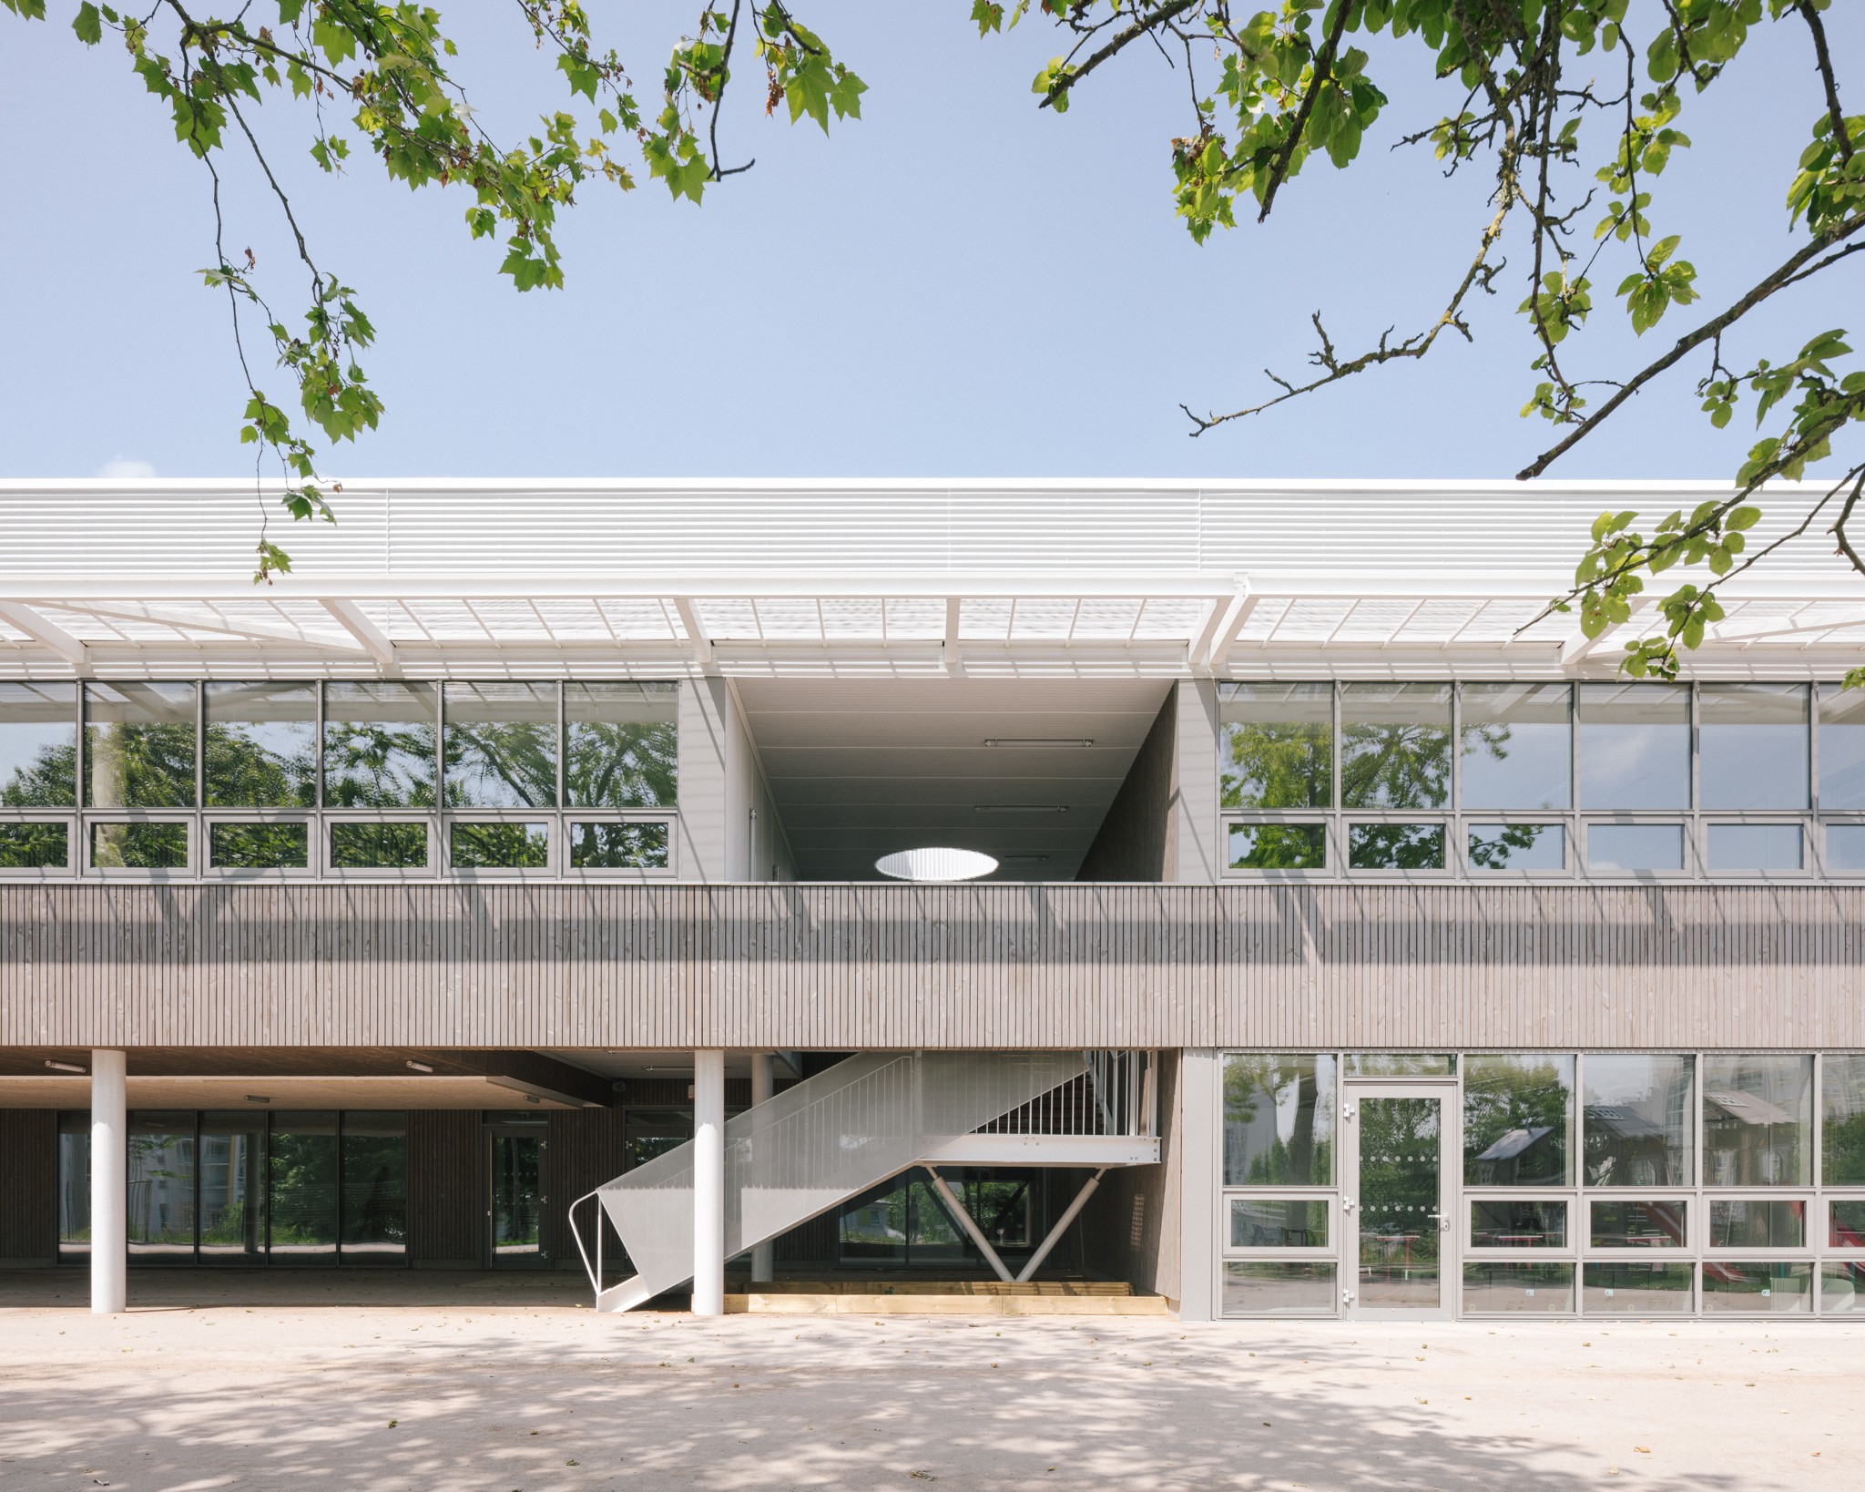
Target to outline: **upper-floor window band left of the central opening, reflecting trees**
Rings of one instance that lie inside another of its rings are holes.
[[[0,878],[673,875],[677,683],[0,683]]]

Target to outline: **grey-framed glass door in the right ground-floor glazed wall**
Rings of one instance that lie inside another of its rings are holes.
[[[1347,1313],[1451,1315],[1451,1119],[1457,1091],[1430,1084],[1348,1084],[1341,1229]]]

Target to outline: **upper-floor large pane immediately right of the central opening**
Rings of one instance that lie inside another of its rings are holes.
[[[1220,684],[1225,808],[1333,806],[1333,684]]]

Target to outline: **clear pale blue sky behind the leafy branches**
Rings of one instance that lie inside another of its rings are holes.
[[[640,95],[655,93],[696,7],[591,9]],[[1475,345],[1445,339],[1423,366],[1186,438],[1181,399],[1253,403],[1264,367],[1300,371],[1309,311],[1343,349],[1386,325],[1402,334],[1468,263],[1488,183],[1444,181],[1429,153],[1389,151],[1447,106],[1414,48],[1376,73],[1393,104],[1350,173],[1311,164],[1268,226],[1199,248],[1169,198],[1182,73],[1132,48],[1057,117],[1029,93],[1056,37],[1026,24],[979,41],[968,9],[806,4],[869,82],[865,117],[824,140],[765,119],[759,90],[740,84],[727,155],[757,166],[701,209],[645,172],[632,194],[589,188],[563,224],[569,289],[554,295],[509,289],[498,250],[468,241],[459,192],[408,194],[367,159],[321,179],[302,117],[272,104],[269,144],[321,256],[380,332],[369,373],[388,414],[330,451],[328,472],[1496,477],[1539,449],[1546,427],[1516,416],[1533,375],[1514,269],[1477,308]],[[494,134],[556,106],[504,6],[442,11]],[[1841,6],[1828,24],[1841,63],[1865,56],[1865,15]],[[1710,298],[1790,250],[1781,198],[1815,112],[1811,50],[1802,28],[1762,30],[1738,76],[1686,119],[1697,147],[1660,198],[1660,231],[1686,235]],[[226,306],[194,274],[211,261],[207,177],[159,104],[63,17],[0,15],[0,476],[250,472]],[[250,244],[274,304],[295,306],[274,213],[250,170],[228,175],[229,242]],[[1846,274],[1794,293],[1736,356],[1792,352],[1843,325],[1865,300]],[[1656,354],[1673,325],[1634,343],[1608,328],[1619,317],[1598,321],[1595,375]],[[1643,395],[1554,476],[1731,474],[1753,435],[1740,418],[1712,433],[1693,380]],[[259,382],[285,392],[272,369]]]

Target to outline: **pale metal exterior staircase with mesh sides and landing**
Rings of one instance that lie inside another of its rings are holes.
[[[1158,1160],[1149,1056],[865,1052],[849,1057],[725,1121],[725,1257],[912,1166],[992,1158],[1043,1164],[1044,1130],[1063,1141],[1048,1164]],[[1076,1087],[1089,1089],[1089,1102],[1043,1102]],[[1013,1132],[1003,1132],[1005,1121]],[[595,1261],[576,1227],[576,1207],[591,1197],[636,1270],[608,1289],[601,1223]],[[599,1311],[632,1309],[692,1279],[692,1141],[578,1197],[571,1205],[571,1231]]]

